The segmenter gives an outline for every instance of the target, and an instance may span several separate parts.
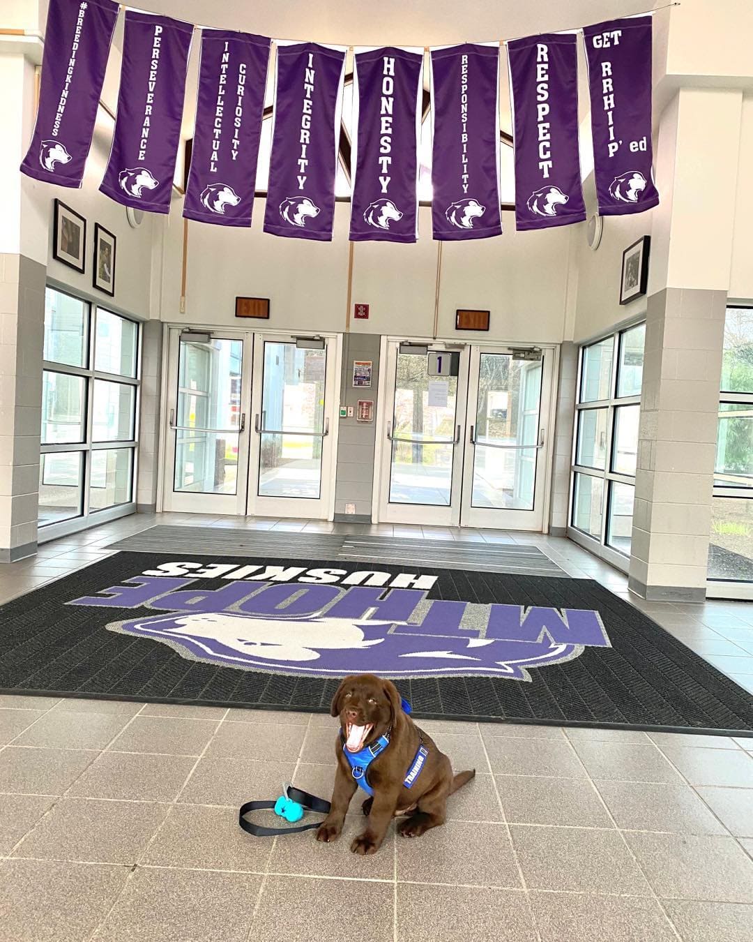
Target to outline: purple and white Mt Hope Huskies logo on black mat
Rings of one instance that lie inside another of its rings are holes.
[[[276,674],[530,681],[533,668],[610,646],[597,611],[430,599],[433,576],[214,563],[195,575],[224,569],[218,578],[232,579],[227,570],[243,578],[205,589],[168,577],[187,565],[200,564],[164,563],[68,604],[154,609],[107,627],[168,644],[184,658]]]

